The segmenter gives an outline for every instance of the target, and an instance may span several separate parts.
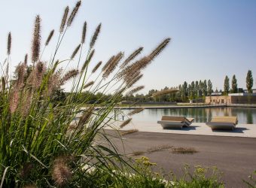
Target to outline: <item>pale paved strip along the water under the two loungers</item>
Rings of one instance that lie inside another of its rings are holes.
[[[121,122],[115,123],[114,127],[118,128]],[[106,129],[111,129],[110,127]],[[238,124],[233,131],[212,131],[206,123],[192,123],[190,127],[183,129],[163,129],[160,124],[133,121],[121,130],[138,129],[139,132],[159,132],[175,133],[184,135],[211,135],[211,136],[231,136],[231,137],[248,137],[256,138],[255,124]]]

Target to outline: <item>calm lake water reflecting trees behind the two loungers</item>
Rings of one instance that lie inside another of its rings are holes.
[[[133,110],[123,110],[123,114],[118,114],[118,119],[124,119]],[[133,121],[157,122],[162,116],[184,116],[193,117],[194,122],[205,123],[215,116],[236,116],[238,123],[256,124],[256,108],[158,108],[145,109],[139,114],[133,115]]]

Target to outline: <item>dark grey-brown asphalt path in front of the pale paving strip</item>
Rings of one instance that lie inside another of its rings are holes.
[[[184,164],[217,166],[224,173],[222,180],[227,187],[246,187],[242,180],[247,180],[248,175],[256,170],[256,138],[136,132],[123,136],[123,143],[117,138],[113,138],[113,141],[119,152],[126,154],[163,145],[194,147],[198,153],[191,155],[173,154],[166,150],[142,156],[148,156],[151,162],[156,162],[157,168],[162,167],[164,171],[174,171],[178,175],[182,174],[181,167]]]

